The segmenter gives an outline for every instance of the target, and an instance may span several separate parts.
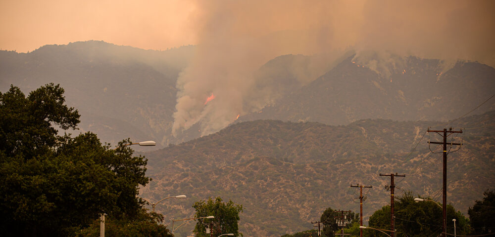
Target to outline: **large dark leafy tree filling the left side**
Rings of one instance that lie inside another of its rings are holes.
[[[142,207],[136,194],[148,183],[147,160],[93,133],[57,135],[55,125],[79,122],[63,92],[47,84],[27,97],[14,86],[0,93],[2,236],[71,236],[100,213],[135,216]]]

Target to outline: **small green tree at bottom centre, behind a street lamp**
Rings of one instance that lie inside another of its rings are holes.
[[[214,200],[208,198],[208,200],[200,200],[194,203],[193,207],[196,209],[195,218],[214,216],[214,219],[198,219],[194,233],[197,237],[209,237],[206,234],[206,228],[211,227],[213,236],[220,236],[223,234],[234,234],[234,236],[243,236],[239,232],[239,213],[243,212],[244,208],[240,204],[234,203],[232,200],[223,202],[221,197],[216,197]]]

